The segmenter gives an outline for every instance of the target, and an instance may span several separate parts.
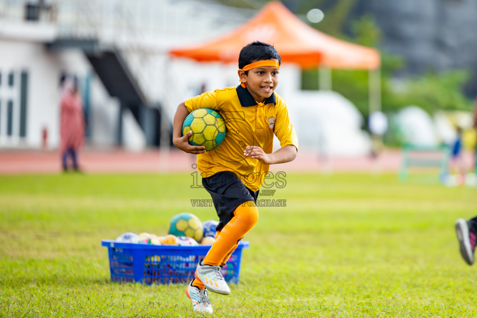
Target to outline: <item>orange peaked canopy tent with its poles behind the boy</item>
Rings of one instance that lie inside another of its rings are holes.
[[[199,62],[237,62],[241,48],[256,40],[273,44],[282,62],[298,63],[304,69],[320,67],[323,72],[319,82],[329,82],[328,89],[331,89],[330,69],[370,70],[370,108],[380,108],[379,52],[312,28],[280,1],[269,2],[235,31],[195,47],[172,50],[170,55]]]

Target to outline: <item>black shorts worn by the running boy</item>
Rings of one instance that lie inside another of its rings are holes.
[[[220,222],[216,228],[222,228],[234,217],[237,206],[247,201],[257,201],[258,191],[246,187],[239,177],[231,171],[219,171],[206,178],[202,178],[202,185],[212,196]]]

